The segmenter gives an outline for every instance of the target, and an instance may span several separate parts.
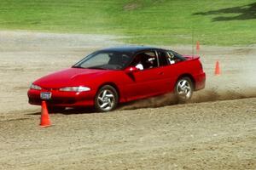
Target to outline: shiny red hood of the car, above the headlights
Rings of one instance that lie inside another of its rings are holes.
[[[89,84],[91,79],[106,74],[109,70],[69,68],[41,77],[34,84],[41,88],[63,88]]]

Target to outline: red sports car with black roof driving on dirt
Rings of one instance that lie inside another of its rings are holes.
[[[199,57],[172,50],[131,46],[96,51],[66,70],[32,82],[29,103],[52,109],[94,106],[112,111],[119,103],[174,93],[181,101],[205,87]]]

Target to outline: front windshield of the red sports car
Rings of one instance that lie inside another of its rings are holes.
[[[131,54],[98,51],[80,60],[73,68],[122,70],[131,62]]]

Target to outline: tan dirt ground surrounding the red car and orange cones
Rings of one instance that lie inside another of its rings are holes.
[[[68,110],[39,127],[40,107],[27,104],[30,83],[118,40],[0,31],[0,169],[256,169],[255,45],[201,46],[207,87],[189,104],[170,105],[167,95],[108,114]]]

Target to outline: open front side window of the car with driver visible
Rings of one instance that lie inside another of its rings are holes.
[[[154,51],[146,51],[137,54],[131,62],[131,66],[135,66],[139,70],[151,69],[158,67],[158,59]]]

